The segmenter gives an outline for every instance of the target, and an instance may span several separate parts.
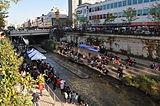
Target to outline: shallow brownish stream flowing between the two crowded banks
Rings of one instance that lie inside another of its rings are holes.
[[[89,78],[78,77],[63,67],[58,59],[89,75]],[[57,54],[48,53],[46,61],[55,67],[60,73],[60,78],[65,79],[67,85],[82,95],[90,106],[158,106],[143,92],[122,85],[120,81],[110,76],[98,77],[99,73],[95,70],[70,62]]]

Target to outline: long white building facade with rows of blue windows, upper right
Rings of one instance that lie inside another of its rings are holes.
[[[116,15],[117,18],[112,23],[119,24],[124,23],[122,20],[126,19],[124,10],[131,7],[135,8],[137,16],[132,25],[154,25],[155,23],[149,18],[149,12],[153,5],[157,3],[160,3],[160,0],[106,0],[86,5],[86,7],[79,6],[76,13],[79,13],[78,11],[87,11],[87,19],[93,26],[103,25],[106,16],[109,14]]]

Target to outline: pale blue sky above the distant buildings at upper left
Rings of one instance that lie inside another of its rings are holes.
[[[53,7],[68,10],[68,0],[21,0],[17,4],[11,3],[6,20],[9,25],[19,25],[28,19],[47,14]]]

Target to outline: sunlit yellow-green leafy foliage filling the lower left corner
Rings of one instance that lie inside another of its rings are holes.
[[[23,77],[19,73],[22,61],[9,39],[0,39],[0,106],[32,105],[32,96],[27,90],[32,88],[34,80],[29,74]]]

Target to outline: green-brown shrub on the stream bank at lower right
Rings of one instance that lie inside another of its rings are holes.
[[[160,77],[151,75],[126,76],[122,81],[160,100]]]

